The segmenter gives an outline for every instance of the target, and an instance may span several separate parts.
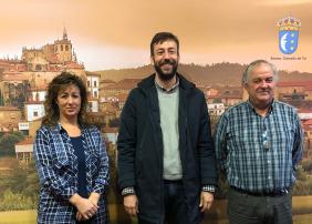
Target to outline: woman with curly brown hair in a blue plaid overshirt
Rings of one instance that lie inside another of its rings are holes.
[[[101,132],[86,122],[86,105],[81,78],[63,72],[49,84],[34,142],[38,223],[108,223],[108,157]]]

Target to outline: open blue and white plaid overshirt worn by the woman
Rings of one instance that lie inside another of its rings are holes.
[[[110,177],[105,141],[95,126],[81,129],[86,189],[101,194],[92,223],[107,223],[105,193]],[[76,223],[76,210],[69,200],[77,192],[77,157],[69,134],[61,124],[43,125],[37,131],[33,152],[41,184],[38,223]]]

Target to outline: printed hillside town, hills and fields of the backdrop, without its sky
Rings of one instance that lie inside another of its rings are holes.
[[[43,41],[44,42],[44,41]],[[0,59],[0,223],[35,223],[39,182],[32,159],[33,140],[44,115],[49,82],[63,71],[80,75],[89,91],[89,119],[101,129],[111,161],[111,223],[135,223],[125,214],[116,185],[116,139],[129,91],[153,72],[152,65],[87,71],[79,62],[66,29],[41,48],[21,49],[20,58]],[[205,93],[212,132],[229,106],[248,99],[241,86],[247,64],[184,63],[179,72]],[[292,190],[295,223],[312,217],[312,73],[280,71],[274,98],[298,109],[304,130],[304,155]],[[228,223],[227,183],[220,180],[217,201],[204,223]]]

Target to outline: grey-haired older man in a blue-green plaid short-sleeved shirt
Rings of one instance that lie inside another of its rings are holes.
[[[216,156],[230,184],[228,214],[233,224],[292,223],[289,189],[303,136],[295,109],[273,98],[277,80],[273,64],[251,62],[242,77],[249,100],[218,122]]]

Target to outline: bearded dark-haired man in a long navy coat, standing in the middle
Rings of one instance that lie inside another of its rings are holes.
[[[155,73],[131,91],[121,116],[118,184],[139,224],[198,224],[217,184],[204,93],[177,73],[179,41],[150,42]]]

